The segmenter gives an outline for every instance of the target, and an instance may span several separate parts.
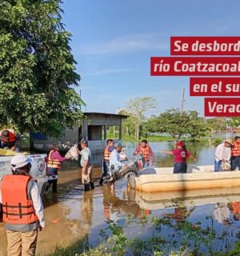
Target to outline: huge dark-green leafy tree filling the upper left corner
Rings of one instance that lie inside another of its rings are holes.
[[[61,0],[0,0],[0,126],[58,136],[82,118]]]

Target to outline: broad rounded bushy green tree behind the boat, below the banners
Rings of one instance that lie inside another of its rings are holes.
[[[174,139],[182,138],[182,135],[198,138],[210,133],[210,126],[204,118],[198,117],[197,111],[166,110],[159,116],[150,117],[147,126],[150,132],[167,133]]]

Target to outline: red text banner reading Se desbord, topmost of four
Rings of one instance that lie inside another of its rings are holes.
[[[171,37],[171,55],[240,55],[240,37]]]

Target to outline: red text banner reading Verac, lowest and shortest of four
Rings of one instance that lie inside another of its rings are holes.
[[[206,117],[240,117],[240,98],[205,98]]]

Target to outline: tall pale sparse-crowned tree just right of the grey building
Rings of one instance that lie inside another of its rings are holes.
[[[156,99],[152,97],[137,97],[127,102],[126,111],[130,115],[130,121],[134,124],[136,141],[139,140],[140,127],[142,121],[146,119],[146,111],[155,107]]]

